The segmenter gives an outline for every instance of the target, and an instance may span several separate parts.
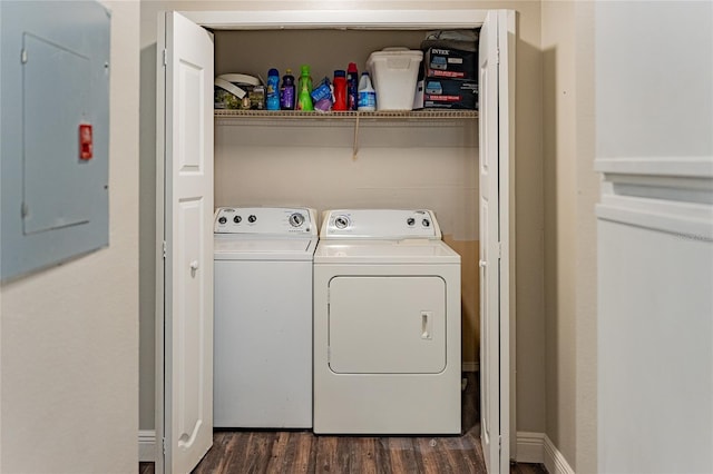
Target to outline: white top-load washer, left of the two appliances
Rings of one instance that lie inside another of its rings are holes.
[[[312,258],[306,208],[215,213],[215,427],[312,426]]]

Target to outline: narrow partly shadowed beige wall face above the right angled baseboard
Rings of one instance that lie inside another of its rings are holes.
[[[543,2],[547,434],[574,462],[576,88],[574,2]]]

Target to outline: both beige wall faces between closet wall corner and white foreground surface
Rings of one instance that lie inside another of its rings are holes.
[[[546,434],[596,468],[594,3],[543,1]]]

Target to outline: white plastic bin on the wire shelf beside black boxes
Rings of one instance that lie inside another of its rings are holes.
[[[367,70],[377,90],[377,110],[412,110],[423,52],[385,48],[369,56]]]

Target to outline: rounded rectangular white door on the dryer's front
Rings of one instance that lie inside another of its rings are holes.
[[[330,368],[338,374],[438,374],[446,368],[446,282],[439,276],[339,276],[329,285]]]

